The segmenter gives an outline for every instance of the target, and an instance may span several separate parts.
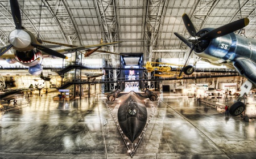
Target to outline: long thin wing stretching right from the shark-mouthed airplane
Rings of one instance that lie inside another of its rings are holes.
[[[62,53],[62,54],[75,53],[76,51],[97,48],[97,47],[101,47],[101,46],[108,46],[108,45],[113,45],[113,44],[119,44],[120,42],[122,42],[122,41],[109,42],[109,43],[96,44],[96,45],[88,45],[88,46],[79,46],[79,47],[75,47],[75,48],[65,48],[65,49],[59,49],[59,50],[55,50],[55,51],[57,51],[58,53]]]

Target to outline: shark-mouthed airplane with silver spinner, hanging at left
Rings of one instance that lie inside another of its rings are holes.
[[[0,57],[7,59],[7,62],[13,63],[15,60],[24,66],[28,66],[28,72],[31,75],[40,75],[43,68],[40,65],[40,59],[42,59],[43,53],[49,54],[48,57],[67,57],[64,53],[74,53],[80,50],[86,50],[91,48],[97,48],[101,46],[118,44],[119,42],[109,42],[97,45],[79,46],[75,48],[67,48],[60,50],[52,50],[42,45],[43,41],[33,35],[30,31],[22,27],[22,19],[20,16],[20,8],[17,0],[10,0],[11,14],[13,15],[15,29],[10,32],[9,45],[3,46],[0,49]],[[14,49],[13,56],[9,54],[5,57],[6,51]],[[43,52],[43,53],[42,53]],[[15,60],[14,60],[15,59]]]

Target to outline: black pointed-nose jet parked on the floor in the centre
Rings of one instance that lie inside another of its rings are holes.
[[[155,101],[158,96],[149,89],[146,89],[144,93],[134,91],[120,93],[117,89],[110,93],[107,98],[109,101],[114,101],[121,96],[122,100],[117,113],[119,126],[122,128],[123,134],[133,143],[139,137],[147,122],[147,108],[144,100],[149,98],[150,101]]]

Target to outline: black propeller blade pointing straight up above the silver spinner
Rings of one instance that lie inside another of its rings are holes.
[[[16,26],[16,29],[22,28],[20,10],[19,10],[19,3],[17,0],[10,0],[11,6],[11,14],[13,15],[13,20]]]

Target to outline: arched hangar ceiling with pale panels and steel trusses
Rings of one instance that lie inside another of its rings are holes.
[[[255,0],[19,0],[23,27],[48,41],[72,45],[123,41],[118,53],[144,53],[147,58],[184,57],[188,48],[175,35],[188,36],[186,13],[197,31],[249,18],[245,36],[255,38]],[[241,10],[240,10],[241,8]],[[15,28],[10,3],[0,1],[0,46]]]

